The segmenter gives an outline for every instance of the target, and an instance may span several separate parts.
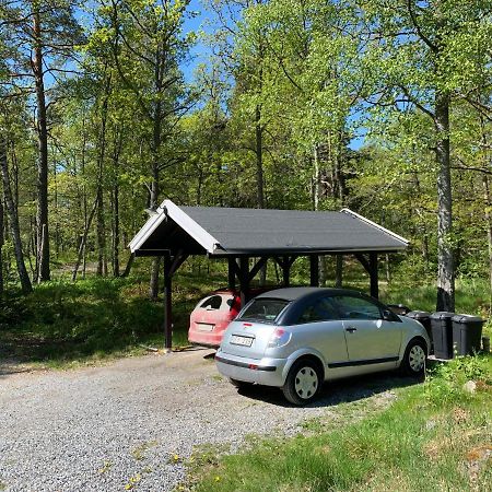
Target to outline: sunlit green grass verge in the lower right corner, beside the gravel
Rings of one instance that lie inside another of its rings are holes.
[[[360,422],[198,460],[180,490],[489,491],[492,358],[440,365],[423,385],[397,394],[389,409]]]

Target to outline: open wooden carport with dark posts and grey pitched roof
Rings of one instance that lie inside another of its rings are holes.
[[[172,347],[172,279],[192,255],[227,258],[229,286],[239,288],[243,305],[251,280],[274,260],[283,284],[301,257],[309,258],[311,285],[319,284],[319,256],[353,255],[370,276],[371,295],[378,297],[377,257],[408,247],[398,234],[343,209],[340,212],[306,210],[184,207],[171,200],[149,218],[130,243],[136,256],[164,258],[165,347]],[[250,266],[250,258],[255,261]]]

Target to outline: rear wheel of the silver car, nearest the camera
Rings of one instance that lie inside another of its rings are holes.
[[[313,401],[321,386],[321,376],[316,364],[309,360],[294,363],[282,387],[283,396],[294,405]]]

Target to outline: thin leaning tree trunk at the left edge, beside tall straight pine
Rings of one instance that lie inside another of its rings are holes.
[[[3,181],[3,195],[5,198],[7,212],[9,214],[9,223],[12,232],[12,239],[14,244],[15,261],[17,263],[19,279],[21,280],[21,288],[24,294],[33,291],[30,276],[25,268],[24,253],[22,251],[21,229],[19,226],[17,210],[14,206],[12,190],[10,187],[9,166],[7,163],[7,144],[5,140],[0,136],[0,167]]]

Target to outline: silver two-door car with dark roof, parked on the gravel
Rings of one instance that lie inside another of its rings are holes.
[[[420,323],[363,293],[291,288],[246,304],[215,362],[235,386],[276,386],[290,402],[305,405],[324,380],[397,367],[422,375],[430,345]]]

